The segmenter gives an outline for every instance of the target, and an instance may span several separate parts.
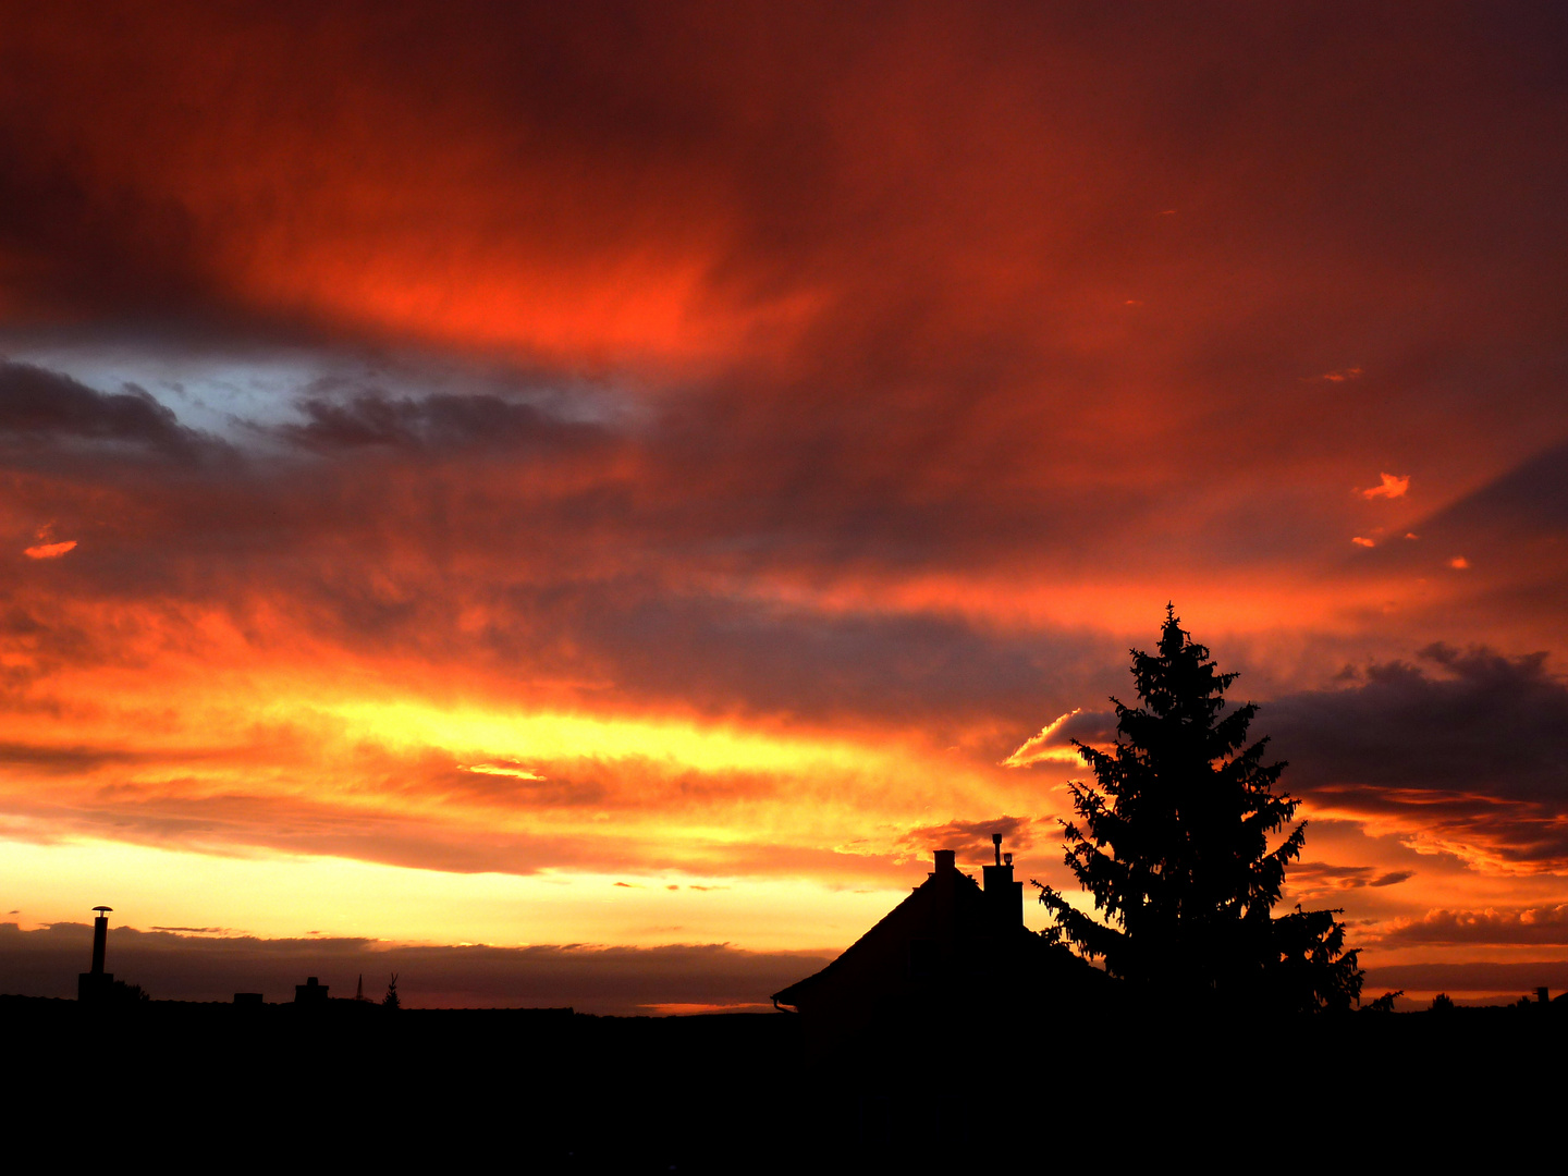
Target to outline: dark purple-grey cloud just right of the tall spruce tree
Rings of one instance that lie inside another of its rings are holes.
[[[1355,687],[1259,715],[1289,786],[1319,804],[1396,815],[1521,862],[1568,861],[1568,684],[1544,654],[1432,644]]]

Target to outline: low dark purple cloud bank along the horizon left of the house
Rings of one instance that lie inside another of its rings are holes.
[[[198,928],[209,930],[209,928]],[[0,993],[71,996],[91,956],[93,930],[55,924],[22,931],[0,924]],[[108,969],[160,1000],[230,1000],[234,993],[293,999],[317,975],[332,996],[379,999],[398,974],[398,994],[416,1008],[574,1007],[638,1014],[662,1005],[767,1005],[822,967],[812,952],[745,952],[724,944],[671,947],[386,947],[370,939],[215,938],[114,927]]]

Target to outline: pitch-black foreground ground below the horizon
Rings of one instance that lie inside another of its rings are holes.
[[[1565,1011],[927,1019],[814,1057],[787,1013],[0,997],[0,1121],[103,1170],[1555,1170]]]

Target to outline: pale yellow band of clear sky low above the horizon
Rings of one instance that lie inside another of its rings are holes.
[[[909,870],[911,878],[917,873]],[[141,930],[215,927],[259,938],[511,947],[728,942],[746,950],[842,949],[908,894],[875,884],[704,878],[677,870],[448,873],[88,837],[0,839],[0,892],[20,903],[20,914],[0,913],[0,922],[24,927],[86,922],[93,906],[107,903],[116,927]]]

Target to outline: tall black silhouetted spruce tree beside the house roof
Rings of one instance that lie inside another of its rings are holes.
[[[1258,707],[1226,707],[1221,674],[1167,607],[1159,652],[1132,652],[1138,707],[1116,707],[1116,746],[1074,740],[1098,787],[1073,782],[1082,825],[1063,822],[1066,864],[1099,919],[1049,886],[1047,931],[1154,993],[1272,1011],[1345,1008],[1361,994],[1339,911],[1273,917],[1306,822],[1269,848],[1295,800],[1273,790],[1284,764],[1247,745]]]

